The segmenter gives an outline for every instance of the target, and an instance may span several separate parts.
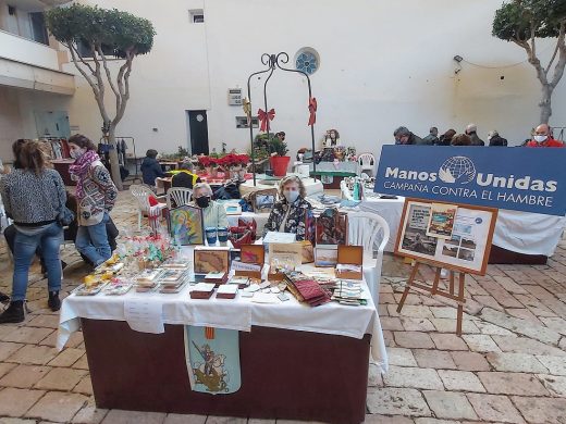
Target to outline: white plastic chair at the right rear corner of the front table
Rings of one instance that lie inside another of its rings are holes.
[[[380,236],[381,239],[379,238]],[[364,247],[364,275],[366,276],[366,282],[376,308],[379,304],[379,285],[383,264],[383,250],[385,249],[389,238],[390,227],[383,217],[369,212],[348,213],[348,245]],[[378,258],[374,262],[376,270],[373,272],[373,270],[371,270],[373,266],[366,266],[366,264],[373,262],[373,249],[378,242]]]

